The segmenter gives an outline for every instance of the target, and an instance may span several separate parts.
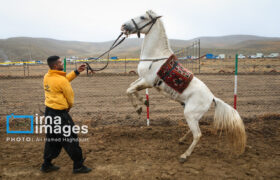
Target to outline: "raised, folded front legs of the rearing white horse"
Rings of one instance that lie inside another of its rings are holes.
[[[131,101],[132,106],[135,108],[136,112],[140,115],[142,113],[142,107],[139,106],[136,101],[133,98],[133,94],[136,96],[136,98],[144,103],[143,98],[141,98],[138,94],[138,91],[141,91],[145,88],[150,88],[144,79],[137,79],[135,82],[131,83],[129,88],[126,90],[127,96],[129,100]]]

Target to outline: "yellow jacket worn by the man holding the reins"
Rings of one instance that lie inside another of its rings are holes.
[[[74,71],[66,75],[63,71],[49,70],[44,77],[45,105],[56,110],[71,108],[74,92],[70,82],[76,77]]]

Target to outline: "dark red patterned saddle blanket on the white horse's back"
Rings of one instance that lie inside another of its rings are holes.
[[[193,73],[184,68],[177,62],[177,57],[173,54],[168,60],[161,66],[157,75],[164,81],[169,87],[182,93],[190,84],[193,79]]]

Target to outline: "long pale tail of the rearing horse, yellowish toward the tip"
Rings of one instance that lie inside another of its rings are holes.
[[[215,97],[214,102],[216,105],[214,127],[217,130],[224,130],[233,145],[234,151],[237,154],[242,154],[245,150],[247,138],[241,117],[235,109],[221,99]]]

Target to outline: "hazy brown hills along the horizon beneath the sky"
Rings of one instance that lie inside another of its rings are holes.
[[[251,35],[230,35],[219,37],[198,37],[201,53],[254,54],[256,52],[280,52],[280,38]],[[172,49],[187,47],[196,39],[171,39]],[[119,57],[139,57],[143,39],[126,39],[111,55]],[[48,38],[16,37],[0,39],[0,60],[33,59],[44,60],[56,54],[59,56],[97,56],[106,51],[113,41],[80,42],[63,41]]]

